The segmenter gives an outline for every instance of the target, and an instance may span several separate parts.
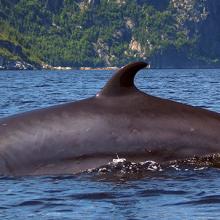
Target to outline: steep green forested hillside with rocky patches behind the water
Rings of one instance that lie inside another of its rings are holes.
[[[0,66],[220,67],[219,22],[219,0],[0,0]]]

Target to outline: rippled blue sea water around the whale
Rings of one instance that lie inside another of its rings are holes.
[[[95,95],[111,71],[0,71],[0,117]],[[220,112],[220,70],[143,70],[142,91]],[[0,177],[0,219],[220,219],[220,169]]]

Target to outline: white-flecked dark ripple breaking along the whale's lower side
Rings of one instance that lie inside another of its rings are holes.
[[[113,159],[112,162],[89,169],[87,173],[98,174],[143,174],[146,172],[174,171],[201,171],[209,167],[220,167],[220,155],[212,154],[203,157],[192,157],[185,160],[175,160],[164,163],[147,160],[143,162],[127,161],[125,158]]]

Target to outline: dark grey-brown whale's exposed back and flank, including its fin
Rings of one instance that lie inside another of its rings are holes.
[[[220,114],[139,91],[146,66],[121,68],[94,97],[1,119],[0,174],[74,174],[116,153],[157,162],[220,153]]]

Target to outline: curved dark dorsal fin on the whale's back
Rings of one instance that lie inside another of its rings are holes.
[[[112,76],[97,96],[122,95],[137,91],[134,85],[134,77],[140,69],[147,65],[145,62],[134,62],[122,67]]]

